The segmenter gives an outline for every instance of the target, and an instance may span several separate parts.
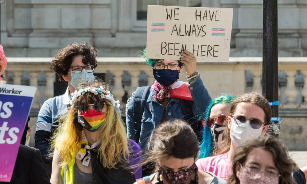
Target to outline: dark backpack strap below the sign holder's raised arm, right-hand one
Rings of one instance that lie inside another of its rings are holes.
[[[201,142],[203,139],[201,121],[198,121],[193,113],[193,101],[180,99],[181,109],[183,111],[184,119],[188,122],[191,128],[194,130],[198,140]]]

